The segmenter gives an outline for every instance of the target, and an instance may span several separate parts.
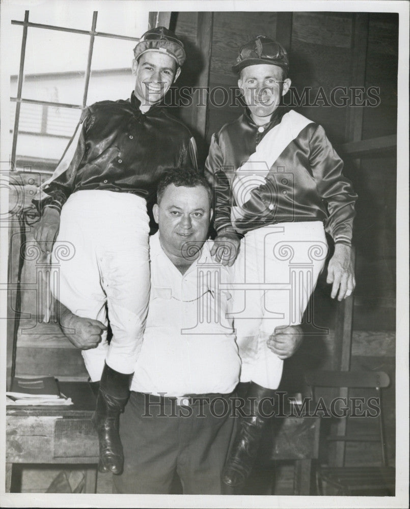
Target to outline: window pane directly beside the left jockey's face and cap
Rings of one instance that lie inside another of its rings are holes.
[[[135,81],[131,73],[134,46],[132,41],[95,38],[87,104],[130,97]]]

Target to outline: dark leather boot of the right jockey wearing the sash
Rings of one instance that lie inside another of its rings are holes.
[[[239,486],[248,478],[269,420],[260,414],[259,403],[263,398],[274,398],[275,392],[276,390],[266,389],[254,382],[249,384],[244,405],[246,415],[240,417],[239,430],[223,471],[223,480],[228,486]],[[250,401],[249,398],[256,399]]]

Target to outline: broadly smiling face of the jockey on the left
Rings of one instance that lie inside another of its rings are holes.
[[[158,51],[147,51],[140,60],[132,61],[132,73],[136,76],[135,95],[141,104],[159,102],[177,79],[181,68],[175,60]]]

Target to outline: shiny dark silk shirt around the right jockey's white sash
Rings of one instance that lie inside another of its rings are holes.
[[[235,172],[286,113],[279,108],[261,128],[246,109],[212,135],[205,175],[214,189],[215,230],[245,234],[279,222],[323,221],[335,242],[349,245],[357,194],[342,175],[343,161],[323,128],[306,118],[306,127],[289,140],[270,166],[266,181],[241,204],[242,217],[232,224],[231,208],[238,205],[232,192]]]

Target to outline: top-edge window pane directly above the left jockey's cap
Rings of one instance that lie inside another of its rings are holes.
[[[97,32],[141,37],[148,30],[148,10],[141,2],[104,2],[99,4]]]

